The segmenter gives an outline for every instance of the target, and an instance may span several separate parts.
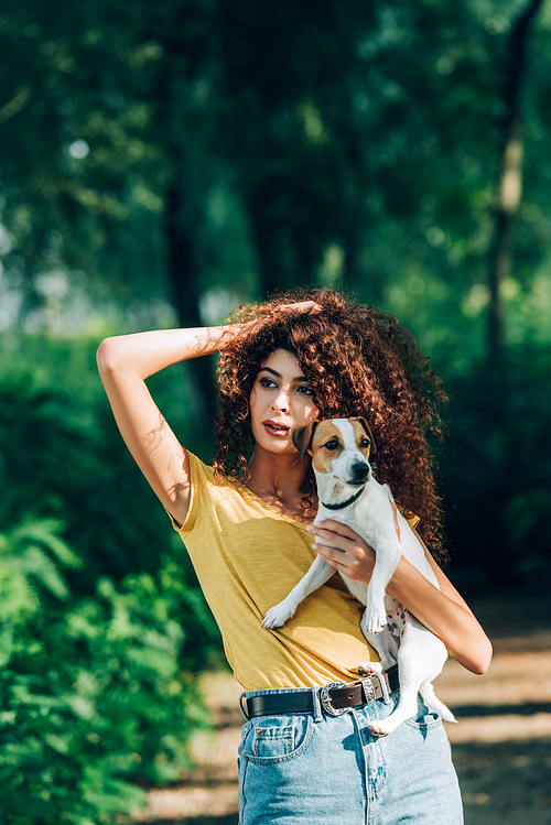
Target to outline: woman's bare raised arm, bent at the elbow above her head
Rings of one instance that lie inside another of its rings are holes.
[[[188,457],[151,398],[145,379],[179,361],[224,349],[241,324],[159,329],[106,338],[99,374],[120,433],[152,489],[183,524],[190,504]]]

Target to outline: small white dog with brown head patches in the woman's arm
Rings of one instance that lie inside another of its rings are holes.
[[[359,672],[387,671],[398,662],[399,704],[390,716],[374,721],[369,729],[376,736],[386,736],[406,719],[415,717],[418,693],[431,710],[455,721],[431,684],[447,659],[444,643],[386,594],[402,553],[435,587],[439,584],[423,546],[396,507],[390,488],[374,478],[369,454],[375,453],[375,443],[367,422],[364,419],[314,421],[306,427],[293,428],[291,437],[301,457],[306,452],[312,455],[320,499],[314,523],[334,519],[348,524],[376,553],[369,585],[341,573],[353,596],[366,606],[361,631],[380,656],[380,664],[360,663]],[[327,543],[320,538],[317,542]],[[317,556],[289,596],[268,610],[262,627],[284,625],[300,603],[334,573],[335,568]]]

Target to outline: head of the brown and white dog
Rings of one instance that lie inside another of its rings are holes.
[[[291,439],[301,458],[310,453],[316,476],[329,475],[352,487],[368,480],[369,455],[376,447],[365,419],[313,421],[305,427],[293,427]]]

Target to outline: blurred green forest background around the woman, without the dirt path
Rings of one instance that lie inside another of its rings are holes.
[[[551,4],[4,0],[0,822],[122,822],[222,666],[99,340],[298,285],[419,338],[451,578],[551,584]],[[150,381],[210,458],[213,363]]]

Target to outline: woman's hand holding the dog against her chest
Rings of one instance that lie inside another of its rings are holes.
[[[327,564],[349,578],[369,583],[375,566],[375,551],[354,530],[333,520],[322,521],[315,525],[309,524],[306,530],[334,545],[312,545]]]

